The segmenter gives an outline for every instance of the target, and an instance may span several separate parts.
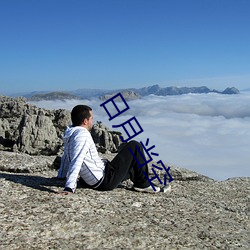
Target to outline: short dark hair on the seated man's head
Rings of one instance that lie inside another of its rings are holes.
[[[92,108],[90,108],[87,105],[77,105],[75,106],[72,111],[71,111],[71,121],[72,125],[75,126],[80,126],[84,119],[89,119],[90,118],[90,112]]]

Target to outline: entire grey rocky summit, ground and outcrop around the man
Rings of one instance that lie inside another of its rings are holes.
[[[63,195],[55,177],[68,112],[1,97],[0,114],[0,249],[250,248],[249,177],[215,181],[169,166],[171,192],[139,193],[125,181]],[[100,156],[111,160],[119,134],[100,122],[94,130]]]

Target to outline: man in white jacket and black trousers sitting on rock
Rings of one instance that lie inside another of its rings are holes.
[[[72,126],[67,127],[64,134],[64,154],[58,178],[67,177],[64,192],[74,193],[78,176],[85,186],[97,190],[112,190],[123,180],[129,178],[134,183],[134,190],[141,192],[159,192],[160,187],[152,186],[143,174],[148,176],[148,166],[138,168],[137,160],[143,164],[141,153],[143,147],[137,141],[129,141],[110,162],[99,157],[90,131],[93,126],[92,109],[86,105],[77,105],[71,112]]]

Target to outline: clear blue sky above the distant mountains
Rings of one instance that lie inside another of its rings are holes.
[[[248,0],[1,0],[0,94],[250,88]]]

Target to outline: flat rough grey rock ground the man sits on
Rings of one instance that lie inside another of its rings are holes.
[[[53,159],[29,157],[26,171],[0,171],[1,249],[250,248],[250,178],[218,182],[173,167],[171,193],[78,188],[62,195]]]

